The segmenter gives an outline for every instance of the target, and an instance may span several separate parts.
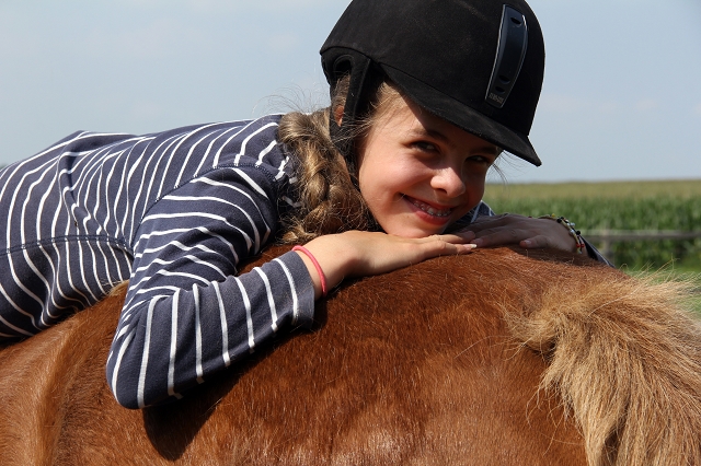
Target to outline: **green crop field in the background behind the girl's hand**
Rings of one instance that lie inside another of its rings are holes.
[[[555,213],[593,230],[701,230],[701,179],[567,184],[489,184],[485,201],[495,212]],[[597,245],[600,246],[600,245]],[[701,238],[614,243],[610,259],[631,273],[669,271],[696,284],[701,313]]]

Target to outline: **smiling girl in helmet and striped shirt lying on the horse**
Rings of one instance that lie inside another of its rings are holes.
[[[528,132],[543,43],[524,1],[354,0],[321,50],[332,105],[147,136],[76,132],[0,172],[0,337],[28,337],[128,280],[107,382],[180,398],[346,277],[474,247],[587,251],[566,222],[491,217]],[[306,243],[249,273],[275,241]]]

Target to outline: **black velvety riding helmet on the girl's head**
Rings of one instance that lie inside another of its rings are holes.
[[[388,79],[428,112],[540,165],[528,133],[545,53],[522,0],[353,0],[321,48],[331,91],[350,75],[338,150],[355,170],[349,135]]]

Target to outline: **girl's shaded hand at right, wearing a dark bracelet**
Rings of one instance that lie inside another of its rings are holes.
[[[526,249],[554,247],[571,253],[577,247],[575,238],[561,223],[514,213],[481,218],[463,232],[474,233],[471,243],[478,247],[518,244]]]

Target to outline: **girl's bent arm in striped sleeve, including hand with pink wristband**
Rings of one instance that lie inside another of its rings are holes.
[[[117,400],[141,408],[182,397],[278,330],[308,326],[321,295],[315,266],[295,252],[237,275],[274,236],[274,182],[219,168],[159,200],[135,235],[129,289],[107,360]],[[468,252],[459,235],[406,240],[346,232],[307,244],[329,287],[440,254]]]

